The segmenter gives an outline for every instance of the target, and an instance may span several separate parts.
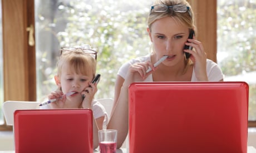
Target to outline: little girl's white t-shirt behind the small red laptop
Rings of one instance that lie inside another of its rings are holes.
[[[100,118],[101,116],[104,116],[103,126],[107,125],[107,122],[109,121],[109,116],[107,115],[106,109],[104,106],[97,100],[92,101],[92,113],[95,119]],[[40,106],[40,109],[51,109],[50,105],[43,105]]]

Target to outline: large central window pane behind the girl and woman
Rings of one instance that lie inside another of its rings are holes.
[[[59,49],[90,44],[98,51],[101,74],[96,98],[114,98],[117,70],[130,58],[150,52],[146,18],[150,1],[35,1],[37,98],[56,89]],[[136,5],[134,5],[136,4]]]

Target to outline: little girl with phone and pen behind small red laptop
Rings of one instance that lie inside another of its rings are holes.
[[[93,99],[97,83],[91,83],[96,73],[97,52],[92,49],[63,47],[57,63],[56,91],[48,99],[57,101],[44,108],[90,108],[93,112],[93,148],[99,145],[98,130],[107,123],[107,113],[98,101]]]

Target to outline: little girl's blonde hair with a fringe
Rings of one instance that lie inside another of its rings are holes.
[[[60,60],[57,63],[58,76],[61,76],[62,66],[64,64],[70,65],[75,72],[83,75],[93,75],[96,73],[96,59],[91,54],[83,52],[82,49],[75,49],[62,53]]]

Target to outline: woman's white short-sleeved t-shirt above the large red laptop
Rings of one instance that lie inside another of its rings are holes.
[[[120,67],[119,71],[117,72],[117,75],[120,75],[122,78],[125,79],[126,73],[128,72],[130,65],[134,63],[147,62],[147,61],[150,61],[150,55],[146,55],[145,57],[138,57],[136,59],[131,59],[129,62],[126,62]],[[219,81],[223,79],[223,73],[219,65],[210,59],[206,59],[206,73],[209,81]],[[147,77],[144,81],[152,82],[153,81],[152,74],[150,74],[149,77]],[[198,81],[198,79],[196,79],[195,77],[194,68],[193,68],[191,81]]]

